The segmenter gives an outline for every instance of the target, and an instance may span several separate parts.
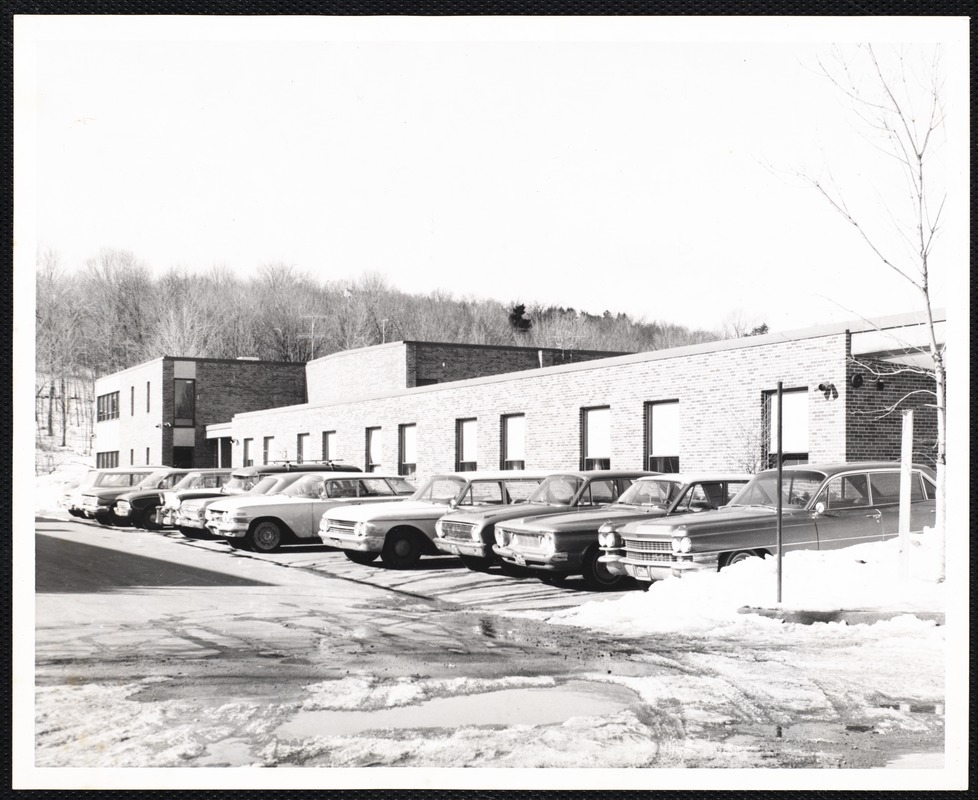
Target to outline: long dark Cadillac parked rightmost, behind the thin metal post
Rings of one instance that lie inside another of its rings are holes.
[[[933,472],[914,467],[911,531],[934,524],[934,492]],[[651,582],[770,555],[776,548],[777,496],[777,470],[766,470],[717,511],[632,522],[605,531],[604,563],[614,574]],[[782,552],[829,550],[896,536],[899,501],[899,464],[784,467]]]

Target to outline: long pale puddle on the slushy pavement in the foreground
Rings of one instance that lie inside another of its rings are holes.
[[[562,686],[503,689],[438,697],[377,711],[305,711],[279,726],[283,739],[350,736],[369,730],[556,725],[572,717],[610,716],[639,705],[621,686],[570,681]]]

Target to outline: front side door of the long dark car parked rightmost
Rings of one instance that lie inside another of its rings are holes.
[[[878,542],[882,537],[882,515],[872,504],[866,473],[830,478],[816,500],[819,503],[825,506],[815,516],[819,550]]]

